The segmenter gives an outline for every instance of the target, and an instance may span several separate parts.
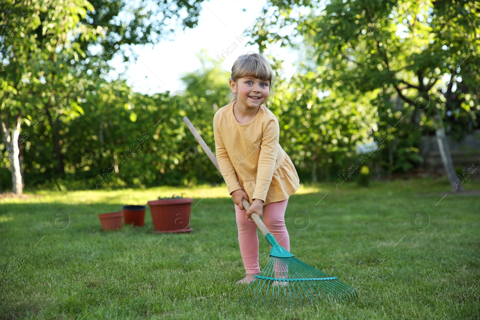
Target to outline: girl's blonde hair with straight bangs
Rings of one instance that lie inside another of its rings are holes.
[[[269,82],[269,91],[272,92],[274,73],[272,66],[260,53],[247,53],[241,55],[232,66],[230,80],[237,82],[240,78],[252,77]],[[237,95],[230,93],[230,102],[237,100]]]

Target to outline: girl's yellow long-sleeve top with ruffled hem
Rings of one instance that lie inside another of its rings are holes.
[[[215,151],[228,192],[242,189],[264,205],[288,199],[300,186],[290,157],[278,143],[276,116],[261,105],[255,118],[238,123],[235,101],[216,112],[213,119]]]

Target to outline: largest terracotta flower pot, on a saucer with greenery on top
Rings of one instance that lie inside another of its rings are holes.
[[[148,201],[154,232],[190,232],[192,198]]]

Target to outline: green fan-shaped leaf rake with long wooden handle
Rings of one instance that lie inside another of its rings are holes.
[[[221,173],[215,155],[210,151],[190,120],[184,117],[183,121]],[[250,203],[246,199],[242,200],[242,204],[246,210],[250,208]],[[337,277],[330,277],[328,274],[298,260],[293,254],[281,247],[257,213],[252,213],[251,217],[264,235],[265,240],[272,246],[272,249],[269,261],[260,275],[254,276],[255,280],[245,290],[239,303],[242,302],[249,290],[252,294],[247,307],[251,304],[252,307],[261,304],[260,308],[263,308],[265,303],[268,304],[268,308],[273,303],[276,306],[281,305],[282,308],[290,308],[293,305],[297,308],[299,306],[303,307],[306,302],[308,304],[314,304],[322,300],[350,302],[357,297],[354,288],[339,281]]]

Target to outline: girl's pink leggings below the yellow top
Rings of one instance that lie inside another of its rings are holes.
[[[285,226],[285,210],[288,199],[278,202],[270,202],[264,205],[263,221],[265,226],[275,236],[278,244],[290,251],[290,238]],[[235,204],[237,226],[239,229],[240,253],[246,273],[260,273],[258,262],[258,236],[257,225],[248,221],[245,216],[247,211],[240,210]]]

